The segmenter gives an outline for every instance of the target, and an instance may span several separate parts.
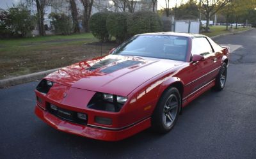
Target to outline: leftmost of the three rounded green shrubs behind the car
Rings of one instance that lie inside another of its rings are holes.
[[[106,20],[109,12],[99,12],[92,15],[89,20],[89,27],[93,36],[99,39],[100,42],[108,42],[111,36],[106,27]]]

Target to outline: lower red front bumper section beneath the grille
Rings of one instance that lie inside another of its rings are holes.
[[[140,121],[126,128],[122,128],[120,130],[105,130],[102,128],[95,128],[93,126],[79,125],[76,123],[63,121],[62,119],[52,115],[46,110],[43,110],[38,105],[36,105],[35,107],[35,114],[36,116],[40,117],[40,119],[42,119],[45,123],[62,132],[106,141],[117,141],[125,139],[127,137],[130,137],[131,135],[134,135],[135,133],[141,132],[142,130],[149,128],[151,125],[151,118],[148,117],[143,121]]]

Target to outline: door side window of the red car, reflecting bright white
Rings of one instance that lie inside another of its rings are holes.
[[[212,53],[212,47],[206,38],[194,38],[192,40],[191,54],[207,56]]]

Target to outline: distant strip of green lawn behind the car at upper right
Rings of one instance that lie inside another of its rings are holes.
[[[237,29],[235,29],[236,26],[233,26],[233,32],[230,30],[226,30],[226,26],[210,26],[210,32],[209,33],[202,33],[206,36],[216,36],[218,34],[226,34],[226,33],[236,33],[237,31],[244,31],[250,29],[250,27],[242,27],[238,26]],[[228,29],[230,29],[230,26],[228,26]]]

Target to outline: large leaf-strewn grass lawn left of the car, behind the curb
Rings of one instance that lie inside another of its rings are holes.
[[[69,64],[100,56],[100,45],[91,33],[67,36],[36,36],[0,40],[0,79],[33,72],[60,68]],[[104,44],[102,53],[116,47]]]

